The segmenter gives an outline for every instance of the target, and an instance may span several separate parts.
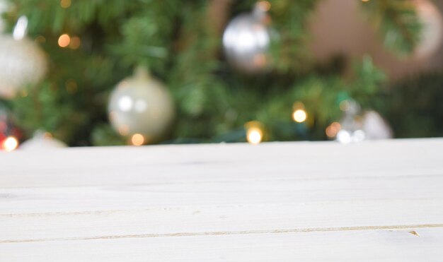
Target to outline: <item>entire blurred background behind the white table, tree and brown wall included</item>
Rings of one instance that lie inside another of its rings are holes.
[[[0,0],[0,149],[443,136],[442,10]]]

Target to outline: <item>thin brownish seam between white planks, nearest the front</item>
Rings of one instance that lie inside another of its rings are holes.
[[[360,226],[360,227],[313,227],[294,228],[281,230],[242,230],[242,231],[214,231],[214,232],[180,232],[168,234],[124,234],[109,235],[100,237],[65,237],[47,239],[6,239],[0,240],[0,244],[23,243],[23,242],[50,242],[69,240],[96,240],[96,239],[125,239],[125,238],[152,238],[152,237],[198,237],[198,236],[219,236],[235,234],[282,234],[282,233],[303,233],[303,232],[339,232],[358,230],[411,230],[417,228],[443,228],[443,224],[422,224],[422,225],[381,225],[381,226]]]

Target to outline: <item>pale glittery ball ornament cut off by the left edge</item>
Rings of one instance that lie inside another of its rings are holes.
[[[25,37],[28,19],[18,18],[13,35],[0,35],[0,96],[13,97],[25,85],[42,80],[47,71],[45,54]]]

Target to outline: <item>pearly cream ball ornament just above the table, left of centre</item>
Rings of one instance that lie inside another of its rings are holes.
[[[133,145],[159,140],[174,117],[174,105],[165,86],[146,69],[117,84],[108,106],[110,123]]]

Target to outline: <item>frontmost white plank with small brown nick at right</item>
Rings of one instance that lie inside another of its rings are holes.
[[[0,261],[437,262],[442,246],[442,228],[219,234],[6,243]]]

